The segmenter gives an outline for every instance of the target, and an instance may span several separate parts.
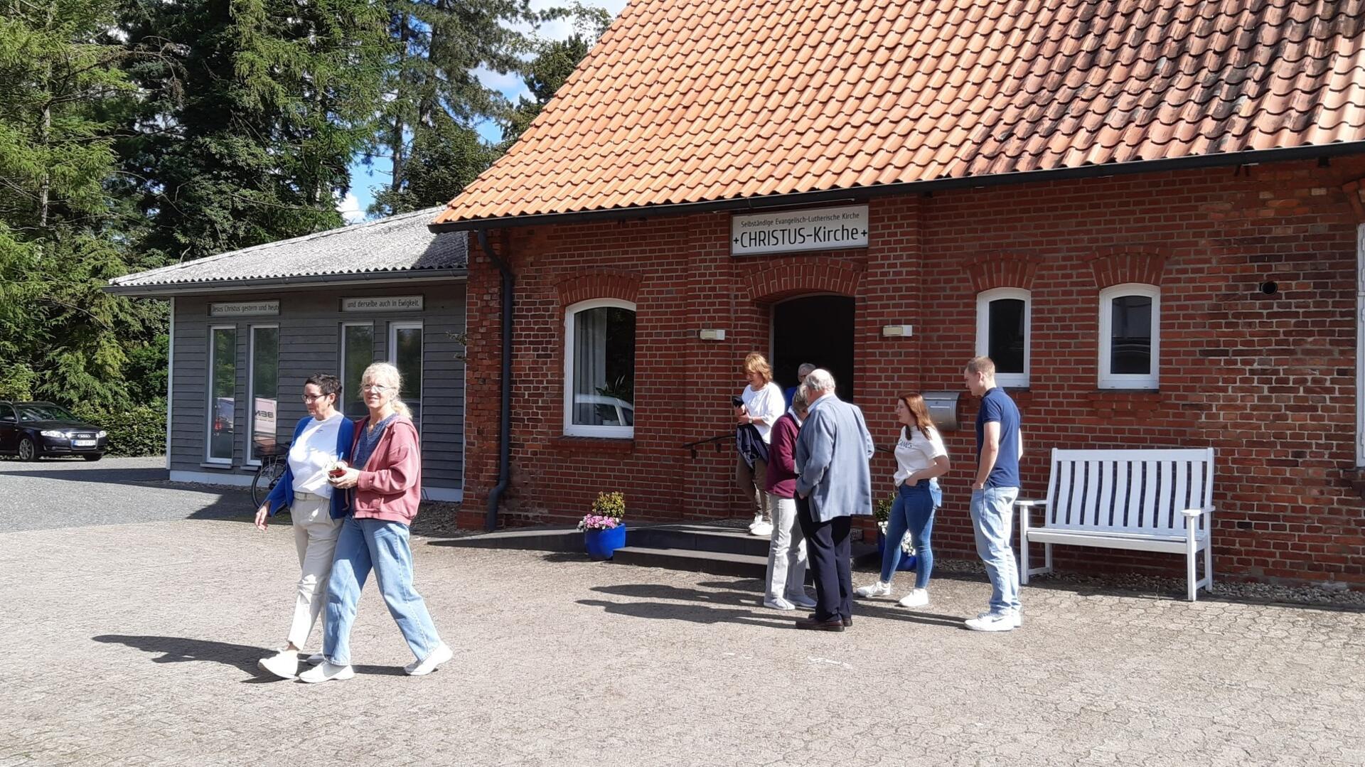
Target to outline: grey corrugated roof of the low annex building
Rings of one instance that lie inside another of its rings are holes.
[[[438,210],[429,207],[128,274],[111,280],[109,291],[154,295],[220,283],[317,283],[341,276],[464,270],[468,236],[427,229]]]

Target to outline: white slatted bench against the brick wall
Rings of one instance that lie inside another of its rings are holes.
[[[1185,554],[1189,599],[1213,585],[1209,525],[1213,449],[1052,450],[1047,501],[1020,509],[1020,581],[1052,572],[1052,545]],[[1031,512],[1041,508],[1043,525]],[[1028,545],[1044,545],[1044,566],[1029,568]],[[1204,553],[1204,577],[1196,560]]]

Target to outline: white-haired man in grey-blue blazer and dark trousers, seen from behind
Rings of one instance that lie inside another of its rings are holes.
[[[875,448],[863,411],[834,394],[834,377],[805,377],[811,403],[796,438],[796,512],[805,534],[815,579],[815,614],[799,629],[844,631],[853,625],[853,575],[849,530],[853,516],[872,513]]]

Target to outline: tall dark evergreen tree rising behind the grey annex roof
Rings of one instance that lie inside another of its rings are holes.
[[[378,3],[134,1],[123,29],[168,50],[130,71],[139,247],[179,261],[341,225],[390,50]]]

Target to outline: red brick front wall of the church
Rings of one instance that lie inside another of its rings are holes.
[[[1355,227],[1365,160],[1290,162],[906,195],[871,202],[871,247],[730,258],[729,217],[696,214],[521,228],[494,237],[517,277],[512,486],[505,524],[577,519],[598,490],[627,494],[631,519],[743,515],[733,450],[684,442],[730,429],[738,366],[767,352],[773,302],[809,292],[856,299],[857,401],[890,444],[891,401],[962,388],[976,293],[1032,291],[1032,377],[1024,414],[1025,494],[1046,490],[1048,449],[1218,449],[1215,569],[1259,579],[1365,585],[1365,502],[1355,464]],[[1351,203],[1355,202],[1353,206]],[[1276,295],[1260,283],[1279,284]],[[1160,390],[1096,386],[1097,293],[1162,291]],[[482,521],[497,478],[498,272],[470,276],[465,523]],[[565,438],[564,307],[637,304],[633,441]],[[889,323],[912,338],[885,338]],[[702,341],[723,328],[725,341]],[[935,527],[943,555],[971,555],[964,431]],[[891,459],[875,459],[890,476]],[[887,482],[889,484],[889,482]],[[880,493],[880,490],[879,490]],[[1179,557],[1059,547],[1062,568],[1181,566]]]

